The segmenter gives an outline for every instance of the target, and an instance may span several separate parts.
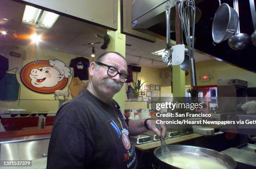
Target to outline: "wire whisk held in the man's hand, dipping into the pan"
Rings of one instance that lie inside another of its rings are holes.
[[[160,141],[161,141],[161,151],[162,151],[162,160],[168,164],[173,162],[171,151],[168,149],[166,142],[162,136],[162,130],[160,124],[156,124],[156,128],[160,131]]]

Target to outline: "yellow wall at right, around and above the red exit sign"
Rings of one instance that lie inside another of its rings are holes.
[[[218,79],[241,79],[248,81],[248,87],[256,87],[256,73],[232,66],[217,60],[196,63],[196,75],[210,74],[212,79],[208,82],[197,80],[197,86],[217,85]],[[185,77],[186,85],[190,85],[190,73]]]

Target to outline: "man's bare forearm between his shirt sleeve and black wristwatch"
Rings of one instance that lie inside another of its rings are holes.
[[[137,136],[148,131],[144,126],[144,121],[145,120],[129,120],[128,129],[131,136]]]

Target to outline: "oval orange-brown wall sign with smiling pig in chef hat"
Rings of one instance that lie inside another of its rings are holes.
[[[59,60],[38,61],[23,67],[20,78],[29,89],[39,93],[54,93],[67,85],[71,70]]]

